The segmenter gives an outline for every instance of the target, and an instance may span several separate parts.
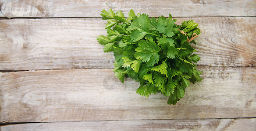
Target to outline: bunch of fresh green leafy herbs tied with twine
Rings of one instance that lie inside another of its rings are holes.
[[[189,42],[200,34],[198,24],[193,20],[181,25],[164,16],[151,19],[146,14],[135,15],[130,10],[126,19],[121,11],[101,11],[107,20],[107,36],[97,37],[105,47],[104,52],[114,52],[115,76],[124,83],[130,77],[140,83],[137,93],[149,97],[161,93],[169,97],[168,104],[176,104],[185,95],[190,82],[202,78],[196,70],[199,55]]]

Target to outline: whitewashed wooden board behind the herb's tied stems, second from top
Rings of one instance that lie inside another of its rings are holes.
[[[198,65],[256,65],[256,17],[193,19],[202,31],[192,44]],[[100,18],[0,20],[0,70],[113,68],[113,53],[96,40],[107,34],[105,24]]]

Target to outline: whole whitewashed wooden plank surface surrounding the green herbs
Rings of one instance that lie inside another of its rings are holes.
[[[109,8],[194,19],[203,81],[175,106],[139,96],[131,79],[105,89],[114,56],[96,37]],[[256,130],[256,0],[0,0],[0,9],[1,131]]]

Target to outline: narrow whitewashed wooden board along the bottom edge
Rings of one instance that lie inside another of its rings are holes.
[[[256,119],[81,121],[12,124],[1,131],[255,131]]]

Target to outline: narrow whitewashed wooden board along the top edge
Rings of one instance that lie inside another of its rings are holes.
[[[255,0],[0,0],[5,17],[100,17],[102,9],[130,9],[150,17],[255,16]]]

